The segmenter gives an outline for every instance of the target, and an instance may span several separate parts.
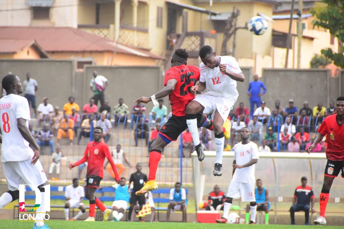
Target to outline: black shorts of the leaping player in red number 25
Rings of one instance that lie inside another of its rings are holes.
[[[205,114],[197,114],[197,127],[201,127],[206,123]],[[160,128],[159,134],[162,135],[163,140],[175,141],[178,136],[187,128],[186,116],[171,116],[169,120]],[[161,137],[161,136],[160,136]],[[166,139],[164,139],[166,138]]]

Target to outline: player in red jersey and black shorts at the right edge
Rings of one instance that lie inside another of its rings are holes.
[[[324,173],[324,183],[320,193],[320,215],[314,220],[314,224],[324,225],[326,205],[329,201],[330,189],[335,177],[342,172],[344,178],[344,96],[337,98],[336,106],[337,114],[327,116],[320,125],[318,132],[312,145],[307,147],[308,153],[311,152],[316,144],[318,144],[326,135],[327,163]]]

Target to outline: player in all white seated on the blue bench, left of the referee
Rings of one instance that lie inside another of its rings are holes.
[[[84,196],[84,187],[79,185],[79,180],[77,178],[73,178],[73,184],[66,186],[65,191],[66,203],[64,212],[66,220],[77,220],[77,218],[85,213],[86,207],[84,203],[82,203]],[[69,219],[69,208],[79,208],[80,211],[76,216]]]

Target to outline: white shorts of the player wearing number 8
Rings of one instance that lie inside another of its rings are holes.
[[[20,184],[31,184],[38,187],[47,179],[39,160],[31,164],[31,159],[25,161],[7,161],[3,163],[3,172],[9,190],[19,190]]]

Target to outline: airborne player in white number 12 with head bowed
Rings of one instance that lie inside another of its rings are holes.
[[[222,175],[222,154],[225,137],[230,137],[230,121],[227,119],[229,111],[238,98],[236,81],[244,82],[245,77],[238,62],[231,56],[216,56],[209,45],[200,50],[202,63],[200,65],[200,83],[191,87],[192,93],[202,95],[195,97],[186,107],[186,124],[192,135],[198,160],[203,160],[205,146],[201,144],[198,135],[196,114],[213,113],[213,128],[215,133],[216,161],[213,174]],[[225,124],[225,125],[224,125]],[[225,127],[223,129],[222,127]]]

